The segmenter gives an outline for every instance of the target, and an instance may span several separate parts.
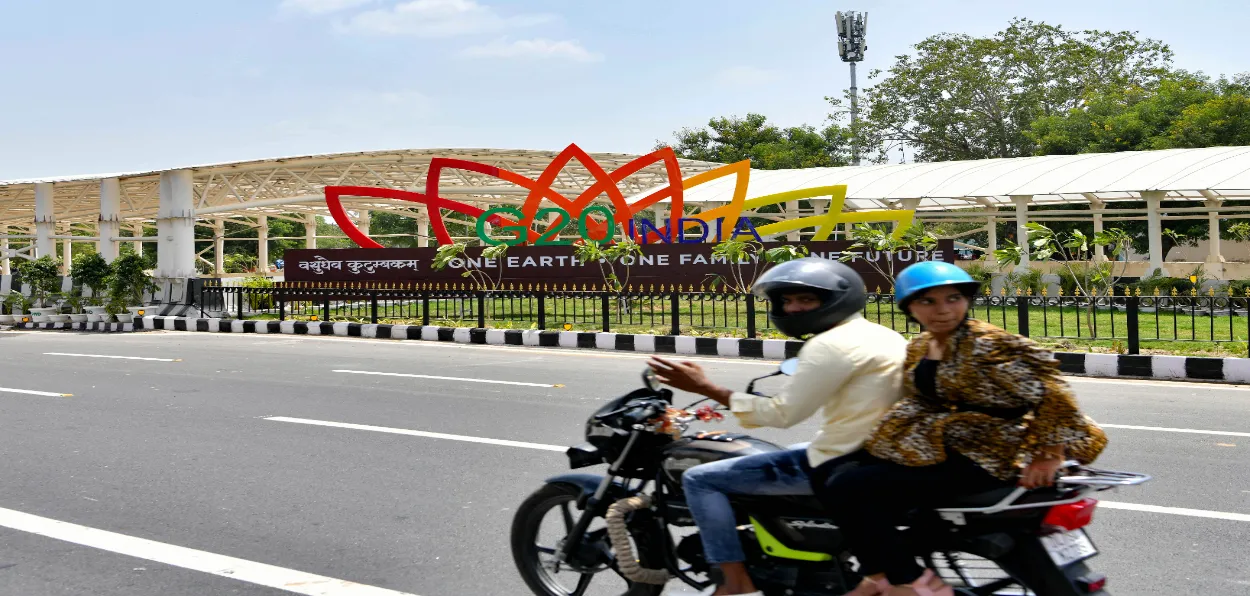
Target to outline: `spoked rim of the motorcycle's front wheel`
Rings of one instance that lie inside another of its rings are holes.
[[[522,546],[522,557],[538,577],[544,591],[551,596],[619,595],[629,590],[630,584],[616,572],[615,560],[606,540],[604,521],[595,520],[586,531],[584,544],[594,545],[602,552],[594,564],[588,565],[590,551],[582,551],[582,561],[566,561],[555,565],[556,549],[572,530],[580,511],[574,495],[552,496],[542,501],[531,512],[529,531]]]

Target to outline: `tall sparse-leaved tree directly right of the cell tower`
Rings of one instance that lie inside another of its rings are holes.
[[[859,142],[915,149],[918,161],[1034,154],[1034,121],[1084,105],[1092,92],[1154,89],[1171,50],[1132,31],[1069,31],[1015,19],[990,37],[940,34],[898,56],[864,94]],[[839,110],[844,100],[830,99]],[[832,116],[841,119],[839,114]]]

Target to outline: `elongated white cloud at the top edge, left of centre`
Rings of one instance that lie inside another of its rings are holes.
[[[355,15],[342,29],[385,35],[455,37],[526,27],[552,19],[550,15],[502,16],[495,9],[474,0],[411,0]]]

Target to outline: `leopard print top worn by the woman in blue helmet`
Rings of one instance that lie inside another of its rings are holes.
[[[938,400],[916,391],[915,369],[928,354],[929,334],[908,345],[902,399],[865,444],[870,454],[905,466],[930,466],[946,449],[1010,481],[1036,450],[1062,445],[1065,456],[1089,464],[1106,447],[1106,435],[1076,405],[1059,374],[1059,361],[1028,337],[969,320],[948,340],[938,365]],[[1006,420],[959,405],[1028,407]]]

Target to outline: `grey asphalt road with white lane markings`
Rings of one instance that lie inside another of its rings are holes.
[[[508,546],[514,510],[565,470],[551,447],[580,442],[586,416],[634,389],[644,361],[332,337],[0,332],[0,595],[528,594]],[[738,386],[774,366],[701,362]],[[1156,477],[1099,509],[1092,566],[1110,590],[1250,595],[1250,390],[1072,385],[1109,425],[1099,464]],[[759,435],[792,444],[811,432]]]

